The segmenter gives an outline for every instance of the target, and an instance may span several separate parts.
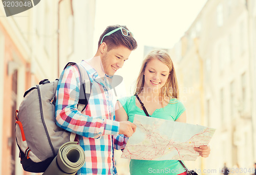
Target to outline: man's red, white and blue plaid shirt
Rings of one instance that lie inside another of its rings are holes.
[[[86,163],[77,174],[117,174],[114,149],[124,148],[127,138],[117,135],[119,122],[115,121],[112,101],[112,78],[98,73],[86,61],[80,63],[92,82],[89,103],[82,113],[77,110],[79,99],[79,72],[76,66],[62,71],[56,91],[56,123],[77,134],[79,145],[86,154]]]

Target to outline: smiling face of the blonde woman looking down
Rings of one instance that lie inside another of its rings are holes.
[[[144,89],[150,88],[153,92],[159,92],[169,76],[170,69],[158,59],[152,59],[147,63],[144,71]]]

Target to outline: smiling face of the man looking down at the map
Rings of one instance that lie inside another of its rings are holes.
[[[131,52],[129,48],[122,45],[110,51],[105,49],[101,57],[105,74],[113,76],[115,72],[123,66],[124,61],[129,58]]]

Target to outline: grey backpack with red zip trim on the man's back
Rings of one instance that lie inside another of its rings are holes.
[[[80,74],[78,110],[83,111],[91,93],[92,83],[87,71],[76,63]],[[58,79],[40,81],[24,94],[24,99],[16,110],[15,135],[19,148],[20,163],[25,171],[45,172],[58,153],[59,147],[70,141],[71,133],[55,123],[55,93]]]

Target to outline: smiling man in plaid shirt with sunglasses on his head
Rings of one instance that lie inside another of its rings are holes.
[[[106,28],[100,36],[96,55],[80,63],[92,83],[89,103],[82,112],[76,107],[80,88],[78,70],[70,66],[61,73],[56,91],[56,123],[76,134],[86,154],[86,163],[77,174],[117,174],[114,143],[122,146],[127,140],[123,135],[132,136],[136,126],[131,122],[115,121],[110,82],[135,48],[137,42],[125,26]]]

